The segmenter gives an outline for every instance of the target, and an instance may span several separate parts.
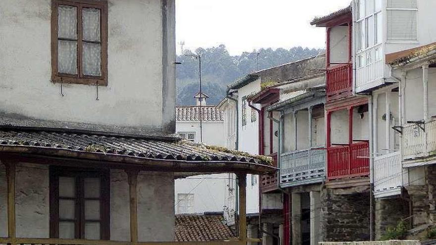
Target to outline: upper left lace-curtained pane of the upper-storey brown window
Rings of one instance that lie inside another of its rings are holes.
[[[76,7],[59,5],[57,15],[58,38],[77,39],[76,11]]]

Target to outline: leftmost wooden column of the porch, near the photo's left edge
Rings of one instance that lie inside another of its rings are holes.
[[[6,167],[7,178],[7,236],[11,239],[11,245],[15,244],[15,169],[16,163],[2,160]]]

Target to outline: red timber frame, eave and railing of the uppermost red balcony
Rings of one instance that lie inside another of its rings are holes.
[[[335,26],[348,26],[348,63],[330,62],[330,33]],[[351,12],[338,16],[324,25],[326,27],[326,77],[327,102],[352,95],[353,91],[353,64],[352,64],[352,18]]]

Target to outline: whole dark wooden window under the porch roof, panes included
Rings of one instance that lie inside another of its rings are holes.
[[[109,240],[109,172],[50,169],[50,237]]]

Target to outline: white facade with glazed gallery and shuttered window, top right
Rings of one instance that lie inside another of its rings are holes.
[[[435,1],[354,0],[352,5],[356,93],[397,82],[390,78],[385,54],[436,41]]]

